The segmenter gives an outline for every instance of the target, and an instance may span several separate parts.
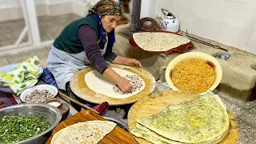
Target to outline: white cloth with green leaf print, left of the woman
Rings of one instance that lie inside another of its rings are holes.
[[[7,74],[0,74],[2,86],[9,86],[14,94],[19,95],[23,90],[34,86],[42,74],[42,66],[38,57],[28,58],[22,64],[14,67]]]

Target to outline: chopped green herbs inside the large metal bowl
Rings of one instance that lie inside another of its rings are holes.
[[[0,120],[0,144],[19,142],[34,137],[49,128],[42,116],[9,115]]]

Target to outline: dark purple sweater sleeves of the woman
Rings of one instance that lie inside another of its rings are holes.
[[[100,47],[98,46],[98,34],[88,25],[79,27],[78,38],[82,42],[82,46],[86,51],[86,57],[89,59],[90,64],[98,71],[98,73],[103,74],[109,67],[106,61],[112,62],[114,61],[114,58],[117,57],[112,51],[113,46],[108,43],[106,53],[102,56],[101,50],[99,50]]]

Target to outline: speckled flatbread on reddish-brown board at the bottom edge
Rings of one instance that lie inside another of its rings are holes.
[[[54,134],[51,144],[96,144],[109,134],[116,123],[109,121],[79,122]]]

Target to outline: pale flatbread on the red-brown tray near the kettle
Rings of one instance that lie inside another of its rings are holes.
[[[167,51],[190,42],[178,34],[143,32],[133,34],[134,42],[143,50]]]

